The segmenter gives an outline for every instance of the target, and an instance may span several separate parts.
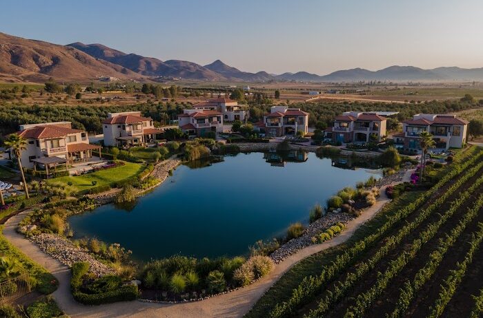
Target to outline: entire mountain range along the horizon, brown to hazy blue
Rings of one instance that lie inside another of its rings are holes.
[[[92,81],[101,77],[122,80],[157,81],[179,78],[195,81],[483,81],[483,67],[437,67],[424,70],[414,66],[391,66],[371,71],[362,68],[339,70],[323,76],[308,72],[268,74],[243,72],[217,60],[208,65],[180,60],[161,61],[153,57],[124,53],[102,44],[57,45],[23,39],[0,32],[0,80],[43,82],[53,77],[61,81]]]

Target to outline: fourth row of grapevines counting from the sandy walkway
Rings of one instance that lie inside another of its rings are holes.
[[[397,299],[396,307],[391,313],[391,318],[402,317],[404,312],[408,309],[411,301],[415,298],[416,293],[426,282],[428,282],[433,274],[435,273],[437,267],[442,262],[442,259],[448,249],[455,244],[457,238],[464,232],[466,226],[475,218],[479,213],[480,208],[483,206],[483,194],[475,202],[473,207],[468,209],[468,212],[463,216],[462,220],[457,224],[457,226],[451,230],[450,234],[445,238],[445,240],[440,240],[436,251],[429,255],[429,261],[417,271],[412,282],[406,281],[403,288],[401,288],[400,297]]]

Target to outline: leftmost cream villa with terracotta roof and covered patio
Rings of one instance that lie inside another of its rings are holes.
[[[70,122],[21,125],[17,134],[27,140],[20,160],[29,169],[86,161],[100,147],[90,145],[87,132],[72,129]]]

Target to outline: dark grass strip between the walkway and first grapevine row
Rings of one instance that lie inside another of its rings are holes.
[[[304,277],[309,275],[318,275],[323,266],[330,264],[337,255],[352,246],[355,242],[361,240],[367,235],[371,235],[386,222],[386,216],[393,215],[399,209],[404,208],[407,204],[416,200],[423,191],[406,192],[399,198],[386,204],[384,208],[375,215],[374,218],[363,224],[345,243],[328,248],[325,251],[311,255],[298,262],[288,270],[266,293],[260,298],[250,312],[245,317],[269,317],[270,310],[275,304],[288,300],[292,295],[292,290],[299,286]]]

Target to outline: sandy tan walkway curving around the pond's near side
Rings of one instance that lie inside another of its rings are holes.
[[[255,282],[255,284],[204,301],[186,302],[184,304],[152,304],[140,301],[125,301],[101,306],[83,306],[78,304],[70,294],[70,269],[58,262],[57,259],[43,253],[37,245],[17,233],[17,224],[25,217],[28,211],[10,218],[5,224],[3,235],[12,244],[20,248],[23,253],[44,266],[59,279],[59,288],[53,295],[62,310],[70,317],[241,317],[295,263],[309,255],[346,242],[359,226],[371,219],[389,201],[384,190],[385,187],[380,190],[381,195],[377,199],[376,204],[366,209],[359,218],[348,222],[346,230],[340,235],[332,240],[308,246],[290,255],[283,262],[277,264],[269,275]]]

